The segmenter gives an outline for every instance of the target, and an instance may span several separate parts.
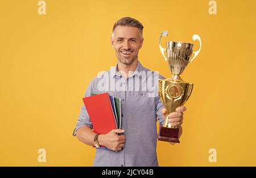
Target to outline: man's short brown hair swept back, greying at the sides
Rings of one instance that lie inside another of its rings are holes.
[[[130,18],[129,16],[123,17],[119,20],[117,20],[117,22],[115,22],[114,26],[113,26],[113,30],[112,30],[112,37],[113,37],[113,32],[115,30],[115,27],[117,26],[128,26],[128,27],[137,27],[139,28],[139,31],[141,32],[141,37],[143,35],[143,25],[141,24],[141,22],[139,22],[139,20]]]

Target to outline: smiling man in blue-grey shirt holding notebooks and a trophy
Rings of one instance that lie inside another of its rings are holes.
[[[115,129],[107,134],[97,135],[92,130],[85,106],[82,106],[73,135],[89,146],[94,146],[94,140],[97,139],[97,144],[108,148],[96,149],[94,166],[158,166],[156,122],[158,120],[159,125],[163,125],[166,109],[158,96],[157,81],[163,77],[144,68],[138,61],[139,49],[143,44],[142,24],[129,17],[119,19],[113,26],[111,44],[118,59],[117,65],[94,78],[85,97],[92,92],[109,92],[114,97],[121,98],[122,130]],[[154,92],[143,90],[151,81],[154,82]],[[185,106],[180,106],[176,112],[168,115],[171,125],[179,126],[180,134],[185,110]]]

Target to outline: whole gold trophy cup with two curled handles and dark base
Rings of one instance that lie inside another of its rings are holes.
[[[164,59],[168,61],[173,76],[164,80],[158,80],[159,97],[167,109],[164,124],[159,130],[158,140],[180,143],[179,128],[177,126],[171,126],[171,123],[168,123],[167,115],[174,112],[176,107],[184,105],[191,95],[193,83],[185,82],[179,75],[187,67],[188,63],[191,63],[199,54],[201,50],[201,39],[199,35],[193,35],[193,40],[199,40],[200,42],[199,50],[193,52],[193,44],[183,42],[166,42],[166,49],[164,49],[160,44],[162,36],[168,36],[168,32],[163,31],[160,34],[159,48]],[[167,57],[164,55],[164,51],[166,51]],[[194,53],[194,56],[190,60],[192,53]]]

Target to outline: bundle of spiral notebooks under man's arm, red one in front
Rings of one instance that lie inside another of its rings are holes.
[[[94,132],[106,134],[113,129],[121,129],[121,98],[115,98],[109,93],[91,93],[90,97],[82,98],[82,100],[92,122]]]

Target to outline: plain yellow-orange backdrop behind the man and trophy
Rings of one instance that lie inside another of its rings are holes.
[[[139,61],[169,77],[158,47],[202,40],[199,56],[181,77],[195,88],[184,113],[181,143],[158,142],[159,165],[256,165],[256,1],[0,1],[0,165],[90,166],[91,147],[72,136],[82,97],[99,71],[117,59],[112,26],[131,16],[144,26]],[[195,42],[195,50],[199,42]],[[38,162],[39,148],[46,163]],[[209,149],[217,162],[208,161]]]

